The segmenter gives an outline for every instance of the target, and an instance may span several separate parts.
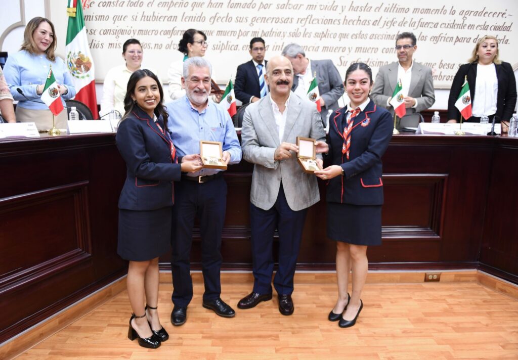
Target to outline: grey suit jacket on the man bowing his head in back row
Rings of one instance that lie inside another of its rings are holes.
[[[338,99],[343,95],[343,81],[335,64],[330,60],[311,60],[311,73],[316,73],[316,80],[319,83],[319,93],[324,99],[325,107],[322,108],[320,116],[325,125],[328,110],[338,109]],[[298,76],[293,77],[293,87],[298,86]]]

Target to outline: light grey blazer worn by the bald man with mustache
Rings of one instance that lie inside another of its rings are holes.
[[[244,112],[241,128],[243,159],[254,164],[250,201],[258,208],[270,209],[277,200],[282,181],[290,208],[302,210],[320,200],[316,177],[302,170],[296,154],[290,159],[274,161],[275,150],[281,141],[271,106],[270,96],[266,96],[247,106]],[[285,111],[283,142],[297,143],[297,136],[325,141],[322,121],[313,104],[292,93]]]

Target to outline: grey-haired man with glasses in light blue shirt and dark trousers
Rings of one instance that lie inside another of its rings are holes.
[[[183,63],[182,87],[185,95],[167,104],[168,129],[179,157],[199,154],[200,140],[223,143],[223,161],[241,161],[241,147],[228,111],[209,99],[212,66],[203,57],[190,57]],[[193,296],[190,253],[194,218],[199,219],[202,268],[205,283],[203,307],[225,318],[234,310],[221,299],[221,232],[225,219],[227,187],[223,171],[202,169],[182,174],[175,184],[172,210],[171,272],[174,290],[171,323],[186,321],[187,306]]]

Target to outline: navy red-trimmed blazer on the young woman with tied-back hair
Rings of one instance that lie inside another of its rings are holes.
[[[343,129],[347,125],[347,107],[335,111],[329,121],[328,158],[343,168],[327,185],[327,201],[353,205],[382,205],[383,180],[381,157],[392,138],[393,122],[389,111],[372,100],[353,122],[349,160],[342,154]]]

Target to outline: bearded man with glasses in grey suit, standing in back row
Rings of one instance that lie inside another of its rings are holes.
[[[407,116],[428,109],[435,103],[434,80],[431,77],[431,69],[412,60],[417,50],[417,39],[413,33],[401,33],[396,38],[397,62],[380,67],[371,98],[378,106],[382,106],[394,115],[394,108],[390,105],[392,94],[397,82],[401,80],[403,93],[405,94],[405,107]],[[413,117],[415,126],[419,123],[419,117]],[[407,122],[407,124],[410,124]]]

